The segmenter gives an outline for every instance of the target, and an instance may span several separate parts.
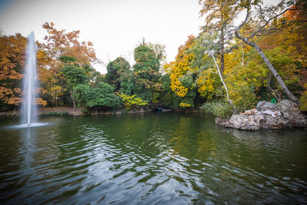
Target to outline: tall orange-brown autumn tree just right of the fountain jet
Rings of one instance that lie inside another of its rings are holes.
[[[95,84],[95,80],[100,76],[100,73],[93,68],[93,65],[100,63],[100,60],[96,58],[91,41],[79,42],[80,30],[72,32],[66,32],[65,29],[57,30],[52,22],[50,24],[46,22],[42,27],[47,30],[48,35],[44,38],[46,43],[41,44],[45,51],[46,62],[41,66],[43,75],[41,75],[40,81],[43,96],[52,105],[55,99],[64,95],[66,89],[67,80],[61,74],[61,70],[66,64],[59,60],[60,56],[76,58],[80,67],[84,68],[89,83],[92,84]]]

